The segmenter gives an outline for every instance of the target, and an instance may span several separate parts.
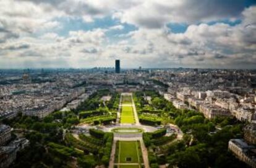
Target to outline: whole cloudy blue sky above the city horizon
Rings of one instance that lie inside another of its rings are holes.
[[[0,69],[255,69],[255,0],[0,0]]]

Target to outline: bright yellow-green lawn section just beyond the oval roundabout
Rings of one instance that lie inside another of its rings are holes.
[[[132,106],[122,106],[121,124],[134,124],[134,111]]]

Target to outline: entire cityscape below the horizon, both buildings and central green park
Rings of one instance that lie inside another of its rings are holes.
[[[0,167],[256,167],[255,70],[0,74]]]

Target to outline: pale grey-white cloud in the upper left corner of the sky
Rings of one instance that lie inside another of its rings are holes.
[[[36,6],[27,1],[0,0],[0,29],[25,35],[60,27],[53,18],[61,16],[54,7]]]

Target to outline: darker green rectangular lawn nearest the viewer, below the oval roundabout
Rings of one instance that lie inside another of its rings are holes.
[[[141,149],[139,149],[139,141],[118,141],[117,142],[117,152],[118,156],[116,157],[117,163],[139,163]],[[127,158],[130,158],[130,161],[127,161]],[[138,166],[137,166],[138,167]]]

